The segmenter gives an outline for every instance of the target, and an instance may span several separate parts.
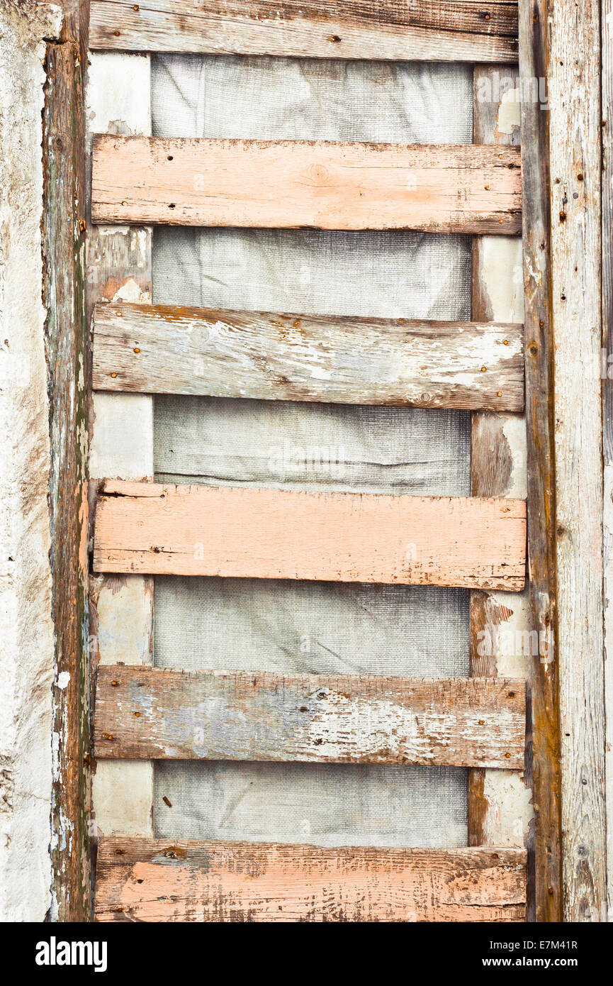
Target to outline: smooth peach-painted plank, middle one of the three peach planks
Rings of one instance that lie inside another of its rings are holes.
[[[524,583],[522,500],[103,484],[94,569],[498,588]]]

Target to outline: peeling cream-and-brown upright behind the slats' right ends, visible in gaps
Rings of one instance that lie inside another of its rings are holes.
[[[511,66],[476,66],[473,140],[519,143],[519,83]],[[472,317],[523,321],[521,240],[473,239]],[[525,498],[525,418],[474,413],[471,421],[471,494]],[[470,672],[528,677],[530,637],[526,593],[473,592],[470,599]],[[470,770],[468,844],[523,846],[532,808],[521,772]]]

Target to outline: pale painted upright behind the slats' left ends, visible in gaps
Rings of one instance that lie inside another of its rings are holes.
[[[149,56],[92,54],[90,61],[90,145],[94,133],[151,133]],[[90,318],[97,302],[151,301],[151,229],[90,227],[87,249]],[[96,393],[94,417],[92,475],[153,478],[153,398]],[[97,661],[150,664],[153,579],[97,576],[90,592]],[[153,763],[99,761],[93,807],[98,834],[153,835]]]

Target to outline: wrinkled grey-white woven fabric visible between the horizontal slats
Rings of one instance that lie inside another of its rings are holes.
[[[471,106],[468,66],[152,59],[158,136],[470,143]],[[461,237],[159,228],[153,270],[157,303],[470,317]],[[462,496],[469,430],[449,411],[156,397],[156,478]],[[155,602],[159,666],[468,673],[460,590],[169,577]],[[156,764],[154,821],[161,837],[456,846],[466,798],[463,770],[170,761]]]

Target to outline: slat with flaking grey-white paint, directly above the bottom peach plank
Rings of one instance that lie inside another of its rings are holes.
[[[102,667],[96,755],[522,768],[525,684]]]

